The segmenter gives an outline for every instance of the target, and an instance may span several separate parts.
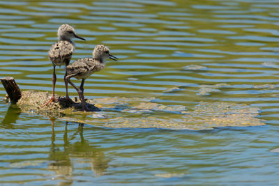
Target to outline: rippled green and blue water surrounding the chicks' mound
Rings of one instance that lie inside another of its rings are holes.
[[[278,21],[273,0],[0,1],[0,75],[22,90],[51,91],[47,50],[68,22],[87,40],[75,40],[72,61],[100,43],[119,58],[86,79],[86,98],[248,104],[266,123],[114,129],[20,114],[1,101],[0,185],[278,185]]]

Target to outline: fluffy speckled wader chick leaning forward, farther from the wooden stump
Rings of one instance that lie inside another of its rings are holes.
[[[82,110],[88,111],[86,108],[86,102],[84,100],[84,81],[90,77],[93,72],[98,72],[105,68],[106,59],[110,58],[117,61],[118,58],[110,54],[110,49],[105,45],[96,45],[92,52],[93,58],[82,58],[71,63],[66,67],[66,84],[71,84],[77,91],[80,101],[82,102]],[[82,79],[80,88],[75,86],[70,78],[75,77],[76,79]],[[67,86],[66,86],[67,87]],[[67,91],[68,92],[68,91]]]

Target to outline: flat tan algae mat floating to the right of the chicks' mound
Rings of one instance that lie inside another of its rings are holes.
[[[101,100],[105,100],[105,102]],[[265,125],[256,118],[259,109],[246,104],[227,102],[199,102],[194,107],[165,105],[137,98],[100,98],[101,114],[66,116],[64,121],[100,125],[111,128],[165,128],[172,130],[209,130],[214,127],[247,127]],[[116,101],[121,100],[121,101]],[[123,101],[125,100],[125,101]],[[138,102],[141,100],[141,102]],[[150,101],[149,101],[150,100]],[[124,105],[125,104],[125,107]],[[122,108],[122,109],[119,109]]]

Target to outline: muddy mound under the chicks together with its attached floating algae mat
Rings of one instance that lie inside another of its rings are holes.
[[[25,113],[111,128],[209,130],[214,127],[265,125],[262,120],[256,118],[259,109],[246,104],[199,102],[186,109],[183,105],[157,103],[155,98],[96,98],[86,100],[86,106],[90,111],[85,113],[80,111],[80,102],[69,102],[63,98],[41,107],[49,99],[50,94],[46,92],[23,91],[17,105]]]

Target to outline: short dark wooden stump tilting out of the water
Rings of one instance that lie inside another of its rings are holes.
[[[15,83],[15,79],[13,77],[3,77],[1,78],[1,82],[8,93],[8,97],[10,98],[10,102],[15,104],[22,97],[22,93],[20,91],[20,87]]]

